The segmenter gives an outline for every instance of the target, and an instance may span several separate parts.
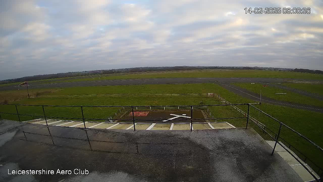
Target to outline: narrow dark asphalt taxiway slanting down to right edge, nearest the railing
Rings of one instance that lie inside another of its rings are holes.
[[[238,94],[239,96],[242,96],[242,97],[257,101],[257,102],[260,101],[260,95],[250,92],[247,89],[241,88],[241,87],[233,85],[233,84],[220,83],[219,85],[230,90],[231,92],[233,92],[235,94]],[[303,110],[323,113],[323,108],[321,108],[321,107],[298,104],[298,103],[291,103],[291,102],[286,102],[286,101],[278,101],[278,100],[267,98],[264,96],[261,96],[261,102],[273,104],[273,105],[278,105],[278,106],[285,106],[285,107],[290,107],[290,108],[303,109]]]

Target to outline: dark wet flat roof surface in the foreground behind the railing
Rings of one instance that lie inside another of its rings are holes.
[[[0,147],[0,181],[302,181],[280,155],[270,155],[270,145],[252,128],[134,132],[17,127]],[[16,169],[55,174],[8,174]],[[58,169],[72,174],[57,174]],[[74,169],[89,174],[74,174]]]

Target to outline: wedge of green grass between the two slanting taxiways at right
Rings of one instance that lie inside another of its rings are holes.
[[[272,87],[272,86],[263,87],[262,86],[263,84],[258,84],[258,83],[256,84],[234,83],[234,85],[240,86],[241,88],[245,88],[259,95],[260,95],[260,89],[261,89],[262,96],[279,100],[279,101],[287,101],[287,102],[323,107],[323,101],[319,101],[317,99],[310,98],[307,96],[302,96],[300,94],[290,92],[286,89],[281,89],[281,88]],[[277,95],[276,93],[286,93],[286,95]]]

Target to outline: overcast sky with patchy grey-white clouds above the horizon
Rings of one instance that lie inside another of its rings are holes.
[[[141,66],[323,70],[322,43],[321,0],[0,0],[0,80]]]

